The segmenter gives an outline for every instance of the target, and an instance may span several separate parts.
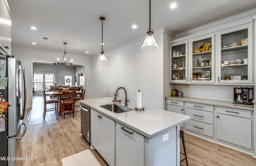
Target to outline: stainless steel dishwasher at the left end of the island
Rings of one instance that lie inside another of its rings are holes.
[[[81,134],[87,140],[87,142],[91,143],[91,109],[86,105],[80,105],[81,108]]]

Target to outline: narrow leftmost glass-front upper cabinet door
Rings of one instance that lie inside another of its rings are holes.
[[[188,41],[170,44],[170,82],[188,82]]]

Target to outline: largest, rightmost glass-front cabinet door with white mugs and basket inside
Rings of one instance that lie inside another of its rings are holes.
[[[252,83],[252,24],[218,33],[218,82]]]

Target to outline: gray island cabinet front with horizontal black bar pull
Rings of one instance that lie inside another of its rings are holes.
[[[144,136],[117,122],[116,166],[144,166]]]

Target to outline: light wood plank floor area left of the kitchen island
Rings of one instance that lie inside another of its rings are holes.
[[[34,95],[32,105],[32,109],[26,110],[27,130],[21,139],[21,154],[22,157],[34,157],[34,160],[24,160],[21,166],[62,166],[62,158],[90,149],[80,136],[79,107],[76,107],[74,118],[66,114],[63,119],[63,116],[56,116],[55,111],[49,111],[44,119],[42,95]],[[98,153],[91,151],[100,164],[106,166]]]

